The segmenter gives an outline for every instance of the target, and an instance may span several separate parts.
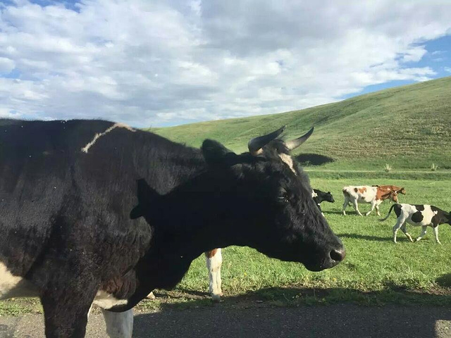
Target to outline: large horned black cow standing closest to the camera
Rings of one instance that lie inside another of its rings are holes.
[[[214,248],[315,271],[345,257],[307,175],[261,151],[281,130],[237,155],[101,120],[0,126],[0,296],[39,296],[47,337],[84,337],[92,303],[131,337],[132,307]]]

